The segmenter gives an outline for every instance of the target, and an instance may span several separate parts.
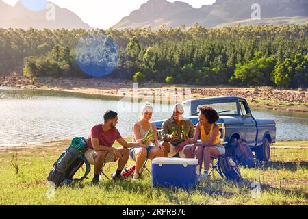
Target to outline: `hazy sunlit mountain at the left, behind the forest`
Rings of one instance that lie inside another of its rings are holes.
[[[50,2],[49,2],[50,3]],[[53,4],[54,5],[54,4]],[[29,29],[91,29],[75,13],[55,5],[55,19],[47,19],[49,10],[32,12],[21,1],[14,7],[0,0],[0,28]]]

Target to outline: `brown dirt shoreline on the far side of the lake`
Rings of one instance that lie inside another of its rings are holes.
[[[81,79],[73,77],[56,79],[52,77],[40,77],[36,81],[31,81],[27,77],[0,77],[0,87],[52,90],[122,98],[138,94],[138,98],[140,99],[151,100],[156,95],[161,95],[162,97],[162,95],[168,92],[178,92],[178,95],[172,94],[172,98],[179,97],[183,95],[183,89],[190,89],[190,97],[192,99],[211,96],[241,96],[247,99],[248,103],[254,109],[308,113],[307,90],[277,90],[276,88],[270,87],[193,87],[183,84],[168,86],[164,83],[142,83],[137,90],[133,90],[133,83],[128,80],[108,78]]]

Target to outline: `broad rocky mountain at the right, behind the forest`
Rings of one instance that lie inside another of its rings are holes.
[[[258,3],[261,20],[251,19],[251,5]],[[114,25],[114,29],[167,27],[192,27],[194,23],[211,28],[225,25],[306,23],[308,21],[307,0],[217,0],[212,5],[192,8],[187,3],[166,0],[149,0]]]

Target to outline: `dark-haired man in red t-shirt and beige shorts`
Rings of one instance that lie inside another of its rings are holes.
[[[129,148],[144,146],[142,140],[138,140],[136,143],[127,143],[116,129],[116,124],[118,124],[118,114],[107,111],[104,115],[104,124],[95,125],[90,131],[87,151],[84,156],[89,164],[94,165],[94,178],[91,182],[94,185],[99,183],[99,173],[104,162],[118,160],[118,169],[114,179],[121,179],[120,173],[129,159]],[[112,147],[115,141],[123,147],[118,149]]]

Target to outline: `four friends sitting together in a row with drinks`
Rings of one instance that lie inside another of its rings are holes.
[[[183,105],[176,104],[171,118],[164,120],[162,124],[160,132],[162,141],[159,141],[157,127],[151,123],[153,106],[146,104],[141,111],[140,120],[132,127],[132,142],[122,138],[116,129],[118,114],[107,111],[104,115],[104,123],[92,127],[88,138],[85,157],[89,164],[94,165],[94,178],[91,183],[93,185],[99,183],[99,174],[104,163],[118,161],[113,179],[123,179],[121,172],[131,157],[136,162],[133,179],[138,180],[146,159],[175,157],[175,155],[181,158],[197,158],[200,166],[198,180],[206,179],[211,157],[223,155],[225,149],[216,124],[219,118],[218,112],[207,106],[201,106],[198,110],[200,111],[199,123],[195,128],[191,120],[183,117]],[[144,142],[150,131],[153,135]],[[199,138],[201,142],[198,142]],[[113,147],[114,142],[118,142],[122,147]],[[204,172],[201,174],[203,163]]]

